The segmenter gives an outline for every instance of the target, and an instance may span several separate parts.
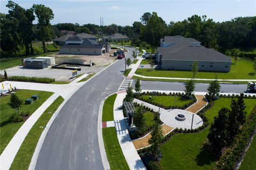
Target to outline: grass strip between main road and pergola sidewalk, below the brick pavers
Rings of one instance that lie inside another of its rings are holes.
[[[102,135],[110,168],[129,170],[117,139],[115,127],[102,128]]]

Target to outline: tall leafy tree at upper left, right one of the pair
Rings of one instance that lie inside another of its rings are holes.
[[[33,5],[34,12],[38,20],[38,38],[42,41],[44,53],[46,53],[45,42],[52,39],[52,30],[50,21],[54,18],[54,14],[50,7],[42,4]]]

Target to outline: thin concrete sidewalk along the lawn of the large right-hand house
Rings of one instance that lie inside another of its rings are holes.
[[[190,80],[191,79],[191,78],[178,78],[178,77],[149,77],[149,76],[142,76],[142,75],[135,74],[135,71],[134,71],[133,76],[142,77],[142,78],[170,79],[170,80]],[[195,80],[209,80],[209,81],[213,81],[215,79],[195,78]],[[230,81],[230,82],[255,82],[256,81],[256,79],[218,79],[218,80],[219,81]]]

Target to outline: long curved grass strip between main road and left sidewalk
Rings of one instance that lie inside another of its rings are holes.
[[[34,154],[37,142],[41,136],[46,124],[51,119],[54,112],[58,109],[64,99],[59,96],[43,113],[43,115],[37,120],[34,126],[30,129],[28,135],[23,141],[17,155],[15,156],[10,169],[28,169],[31,158]]]

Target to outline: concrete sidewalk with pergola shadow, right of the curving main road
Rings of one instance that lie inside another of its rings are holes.
[[[116,126],[117,138],[121,149],[123,151],[125,160],[130,169],[146,169],[137,150],[135,149],[131,137],[126,128],[125,118],[123,116],[123,99],[125,98],[126,92],[117,93],[116,100],[114,103],[114,121]]]

